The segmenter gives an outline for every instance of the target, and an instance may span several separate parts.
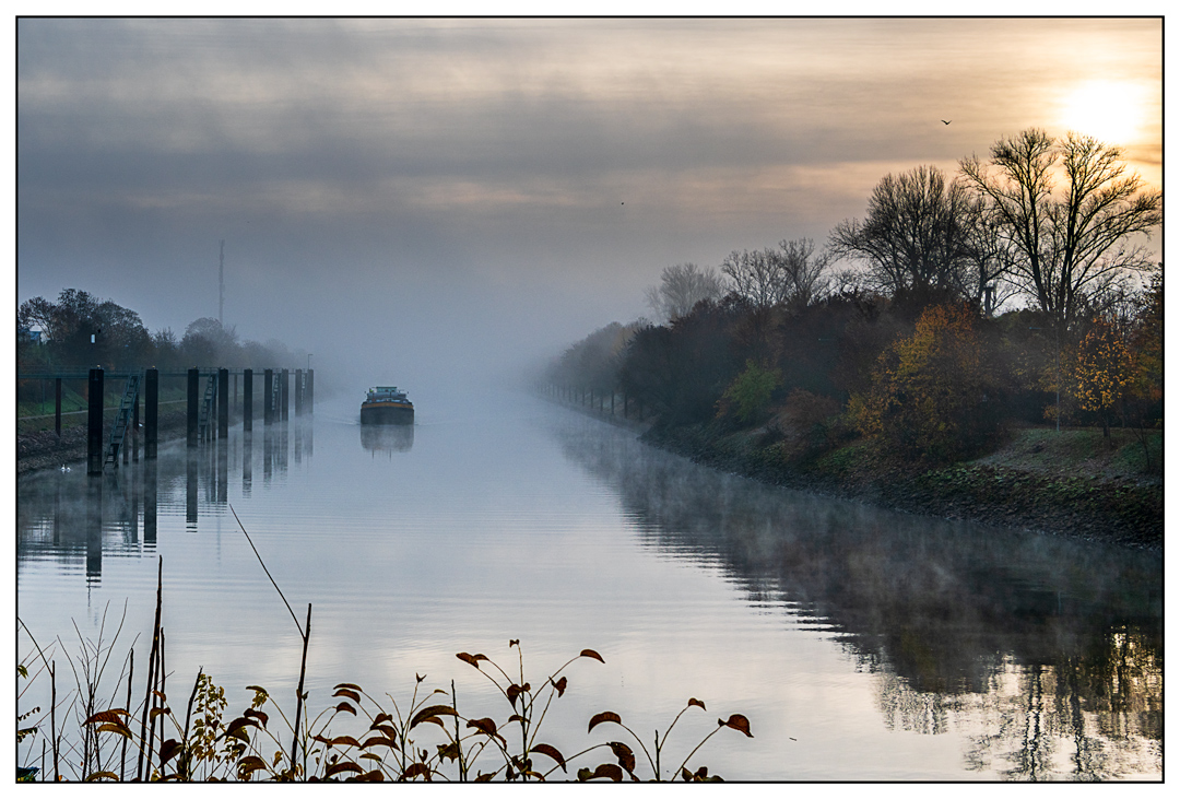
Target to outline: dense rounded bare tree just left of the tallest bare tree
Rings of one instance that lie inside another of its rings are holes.
[[[868,197],[864,222],[845,220],[831,234],[837,257],[861,261],[873,287],[968,294],[970,196],[936,166],[886,175]]]

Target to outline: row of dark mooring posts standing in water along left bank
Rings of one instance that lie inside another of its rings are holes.
[[[188,376],[188,446],[190,448],[198,445],[198,426],[201,417],[201,378],[210,375],[209,371],[202,373],[198,368],[189,369]],[[217,369],[217,437],[225,438],[229,434],[229,369]],[[254,369],[242,369],[242,430],[249,432],[254,430]],[[235,372],[235,376],[237,373]],[[87,419],[86,419],[86,473],[103,473],[103,382],[104,371],[99,368],[90,369],[87,384]],[[144,369],[143,388],[136,394],[131,430],[138,433],[139,430],[139,395],[144,400],[144,458],[155,458],[159,440],[159,371]],[[169,373],[168,376],[177,376],[177,373]],[[263,371],[263,425],[273,425],[275,421],[287,421],[290,399],[290,372],[288,369],[264,369]],[[278,398],[275,398],[275,381],[278,385]],[[58,394],[58,434],[60,435],[61,423],[61,378],[57,379]],[[236,395],[235,382],[235,395]],[[295,415],[310,414],[315,395],[315,371],[295,369]],[[212,420],[210,419],[210,432]],[[138,452],[136,452],[138,454]],[[123,461],[126,463],[126,448],[123,452]],[[116,459],[118,465],[118,459]]]

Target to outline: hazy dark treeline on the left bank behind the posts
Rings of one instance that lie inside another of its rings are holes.
[[[31,332],[40,330],[40,341]],[[296,362],[281,341],[243,341],[234,326],[194,320],[177,338],[171,328],[149,332],[139,314],[112,300],[67,288],[57,301],[33,297],[17,312],[17,362],[21,371],[48,367],[186,369],[268,367]]]

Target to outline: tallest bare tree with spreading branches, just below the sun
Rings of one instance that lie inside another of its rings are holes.
[[[1068,133],[1058,142],[1030,127],[996,142],[988,164],[976,156],[959,162],[1018,256],[1015,280],[1067,326],[1092,297],[1153,263],[1147,248],[1129,240],[1162,222],[1163,195],[1143,191],[1139,175],[1125,176],[1121,158],[1120,148],[1093,137]],[[1054,192],[1057,170],[1063,196]]]

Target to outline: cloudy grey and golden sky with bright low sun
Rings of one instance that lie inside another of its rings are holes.
[[[1160,18],[20,19],[15,45],[14,304],[79,288],[181,336],[224,241],[225,325],[369,385],[511,373],[650,315],[664,267],[821,247],[886,173],[1030,126],[1162,188]]]

